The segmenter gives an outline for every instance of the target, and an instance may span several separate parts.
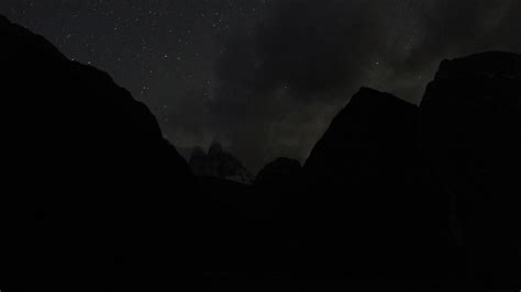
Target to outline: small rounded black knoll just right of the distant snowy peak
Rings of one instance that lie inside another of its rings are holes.
[[[295,186],[301,168],[299,160],[279,157],[258,171],[255,184],[262,187]]]

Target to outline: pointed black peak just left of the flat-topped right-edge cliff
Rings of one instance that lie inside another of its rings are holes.
[[[417,125],[415,105],[362,88],[306,161],[302,217],[315,225],[324,257],[350,272],[440,272],[435,258],[450,240],[448,200],[429,190]]]

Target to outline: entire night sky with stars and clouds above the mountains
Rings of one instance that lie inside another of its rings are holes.
[[[443,58],[521,53],[519,0],[2,0],[0,13],[148,105],[185,156],[303,161],[350,97],[419,103]]]

